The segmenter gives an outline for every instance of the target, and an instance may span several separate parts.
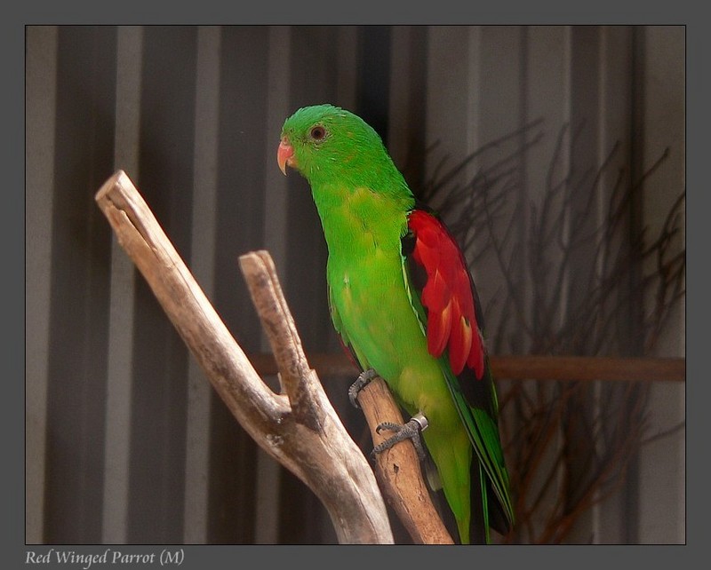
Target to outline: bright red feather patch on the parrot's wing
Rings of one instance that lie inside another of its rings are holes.
[[[412,210],[412,257],[425,269],[422,305],[427,309],[427,350],[439,358],[449,349],[455,376],[465,365],[483,377],[484,349],[476,322],[474,291],[467,264],[454,238],[433,215]]]

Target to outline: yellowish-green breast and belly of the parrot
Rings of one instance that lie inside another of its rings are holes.
[[[315,193],[334,325],[363,368],[375,368],[410,411],[424,411],[422,395],[432,390],[423,388],[435,384],[439,393],[445,386],[405,286],[400,240],[407,210],[367,189],[333,200],[337,194],[319,201]]]

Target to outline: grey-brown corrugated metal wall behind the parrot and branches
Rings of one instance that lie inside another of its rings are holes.
[[[564,124],[585,128],[562,168],[602,162],[619,141],[641,171],[668,146],[640,213],[659,228],[684,184],[684,42],[681,27],[28,27],[27,542],[335,542],[316,497],[236,424],[114,241],[93,195],[116,169],[247,352],[268,345],[237,257],[264,248],[307,351],[335,352],[316,210],[276,168],[287,115],[324,101],[356,111],[413,186],[444,156],[515,132],[501,154],[532,143],[524,127],[542,120],[508,200],[522,235]],[[495,328],[493,263],[475,277]],[[683,355],[683,328],[680,310],[664,355]],[[324,384],[357,432],[347,381]],[[651,416],[653,431],[683,421],[683,387],[655,386]],[[684,542],[683,454],[683,431],[645,447],[635,500],[604,503],[571,540]]]

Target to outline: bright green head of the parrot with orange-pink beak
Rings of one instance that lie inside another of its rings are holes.
[[[378,133],[358,115],[332,105],[302,107],[289,117],[276,157],[284,174],[290,166],[311,186],[333,179],[370,184],[381,170],[395,170]]]

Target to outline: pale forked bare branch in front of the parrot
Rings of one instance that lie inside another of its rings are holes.
[[[371,468],[308,368],[267,254],[241,263],[285,394],[272,392],[252,368],[123,171],[101,186],[96,202],[237,421],[321,499],[339,542],[392,543]]]

